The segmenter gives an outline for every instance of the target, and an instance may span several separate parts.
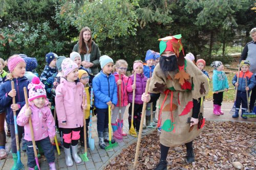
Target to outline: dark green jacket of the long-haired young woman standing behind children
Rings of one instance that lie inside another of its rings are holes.
[[[79,53],[78,52],[78,42],[74,45],[73,52]],[[81,60],[83,61],[83,55],[80,54],[80,56],[81,56]],[[91,67],[93,75],[97,75],[99,73],[98,67],[100,66],[100,64],[99,64],[100,56],[101,56],[101,54],[100,54],[98,45],[94,41],[92,41],[92,51],[91,51],[90,62],[92,62],[94,64],[93,67]]]

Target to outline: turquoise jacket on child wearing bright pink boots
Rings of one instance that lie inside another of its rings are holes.
[[[228,88],[228,80],[225,72],[214,70],[214,75],[212,75],[213,91],[224,90]]]

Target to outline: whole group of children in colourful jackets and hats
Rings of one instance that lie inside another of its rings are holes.
[[[193,54],[189,53],[185,57],[187,60],[193,59]],[[134,117],[133,126],[136,131],[139,131],[141,121],[141,112],[143,102],[141,95],[145,92],[146,81],[154,74],[155,65],[159,62],[160,54],[152,50],[146,53],[145,61],[136,60],[133,63],[134,74],[130,77],[125,76],[128,64],[125,60],[118,60],[115,63],[109,56],[101,56],[99,59],[101,71],[99,74],[90,75],[87,69],[81,66],[81,57],[78,53],[72,52],[70,58],[64,56],[57,56],[54,53],[46,55],[47,65],[40,76],[33,76],[31,81],[25,76],[27,72],[26,61],[20,55],[11,56],[8,59],[8,69],[10,73],[3,70],[4,63],[0,60],[0,73],[2,78],[6,79],[1,82],[0,87],[0,112],[6,110],[6,121],[10,125],[11,139],[12,139],[12,155],[14,165],[17,162],[17,150],[15,142],[15,126],[13,119],[13,111],[17,113],[18,124],[18,140],[22,138],[27,144],[28,167],[29,169],[36,169],[36,162],[34,159],[31,132],[29,128],[29,117],[32,119],[34,138],[44,151],[44,154],[49,163],[50,169],[55,169],[55,157],[52,142],[55,136],[55,120],[53,118],[54,110],[57,113],[56,126],[62,136],[62,145],[65,150],[65,160],[67,166],[73,165],[73,160],[80,163],[82,160],[78,156],[78,142],[84,146],[83,136],[83,110],[86,110],[86,130],[88,135],[88,126],[90,121],[90,110],[96,108],[97,113],[97,131],[99,137],[99,147],[105,149],[106,143],[109,142],[109,128],[113,132],[117,131],[118,127],[123,127],[123,114],[126,106],[129,107],[129,129],[132,124],[132,103],[133,90],[135,90],[134,102]],[[195,63],[195,62],[194,62]],[[203,59],[197,60],[195,63],[200,70],[209,78],[207,71],[204,70],[205,61]],[[214,114],[223,114],[221,111],[221,103],[223,99],[223,92],[219,90],[226,90],[229,88],[225,73],[223,72],[223,64],[220,61],[212,62],[211,66],[214,69],[212,76],[212,83],[214,86]],[[242,102],[242,117],[245,105],[245,90],[249,91],[256,84],[254,76],[248,71],[249,62],[242,61],[241,71],[239,75],[233,78],[233,85],[238,88],[238,95],[236,100],[237,111],[233,117],[238,117],[240,103]],[[136,76],[136,82],[134,78]],[[237,82],[237,77],[239,81]],[[248,86],[245,87],[244,81],[247,81]],[[14,82],[15,89],[11,88],[11,82]],[[25,105],[25,95],[23,88],[28,88],[29,93],[29,108]],[[120,88],[120,90],[119,90]],[[90,106],[90,91],[93,89],[94,106]],[[119,94],[119,91],[121,94]],[[83,96],[86,99],[83,104]],[[119,96],[121,98],[119,99]],[[16,104],[12,103],[12,98],[15,98]],[[111,125],[109,127],[109,106],[112,110]],[[151,109],[154,114],[155,126],[157,120],[156,103],[148,104],[146,109],[146,126],[150,125]],[[121,110],[120,117],[118,116]],[[0,114],[1,115],[1,114]],[[0,117],[0,121],[3,118]],[[160,129],[161,130],[161,127]],[[142,134],[145,134],[143,131]],[[1,135],[1,134],[0,134]],[[127,134],[122,131],[122,136]],[[2,136],[1,136],[2,138]],[[88,138],[88,136],[87,136]],[[88,140],[87,140],[88,141]],[[111,140],[112,143],[115,139]],[[4,144],[3,144],[4,145]],[[2,143],[0,143],[2,147]],[[0,148],[3,149],[3,148]],[[72,153],[72,154],[71,154]],[[73,158],[73,160],[72,160]]]

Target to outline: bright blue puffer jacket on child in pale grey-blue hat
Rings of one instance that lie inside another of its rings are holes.
[[[93,79],[94,106],[99,109],[108,108],[111,101],[117,104],[117,85],[114,75],[107,77],[102,70]]]

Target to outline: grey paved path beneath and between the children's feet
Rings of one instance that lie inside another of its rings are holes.
[[[216,116],[212,114],[212,102],[204,102],[204,117],[206,117],[206,120],[214,120],[214,121],[237,121],[237,122],[254,122],[256,123],[256,118],[248,118],[242,119],[239,118],[232,118],[231,114],[229,114],[230,109],[232,108],[232,103],[223,103],[222,105],[222,111],[224,111],[224,115]],[[126,112],[124,114],[124,132],[128,133],[128,122],[127,122],[128,112],[126,109]],[[61,149],[61,154],[57,155],[55,152],[55,164],[58,169],[64,170],[64,169],[103,169],[109,161],[114,158],[116,155],[118,155],[122,149],[126,148],[130,144],[137,141],[137,138],[128,135],[126,138],[123,139],[122,142],[119,142],[119,146],[117,148],[114,148],[113,150],[110,150],[106,152],[105,150],[102,150],[99,148],[98,145],[98,135],[97,135],[97,126],[96,126],[96,117],[93,117],[93,132],[92,137],[95,139],[95,149],[94,151],[90,151],[88,149],[88,162],[82,162],[79,164],[74,163],[73,166],[67,167],[65,163],[65,153],[63,152],[63,149]],[[151,133],[155,129],[147,129],[147,134]],[[8,157],[7,159],[0,160],[0,169],[3,170],[9,170],[12,166],[12,154],[10,153],[10,147],[11,147],[11,139],[10,137],[7,137],[7,143],[6,143],[6,149],[8,151]],[[84,149],[79,147],[79,154],[83,153]],[[27,156],[24,152],[21,153],[21,160],[23,164],[25,165],[25,169],[27,168]],[[48,163],[46,159],[43,157],[40,159],[40,167],[42,170],[48,169]]]

